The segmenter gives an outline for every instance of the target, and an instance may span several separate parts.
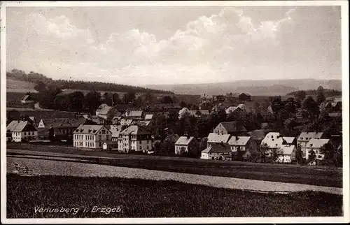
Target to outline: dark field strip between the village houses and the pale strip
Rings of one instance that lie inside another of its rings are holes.
[[[145,168],[179,173],[236,177],[250,180],[266,180],[298,184],[311,184],[325,187],[342,187],[342,170],[297,165],[254,164],[240,161],[211,161],[179,157],[158,157],[151,155],[116,154],[78,150],[74,147],[22,145],[8,143],[8,149],[38,152],[59,152],[82,156],[111,157],[113,159],[92,159],[94,164]],[[43,153],[44,154],[44,153]]]

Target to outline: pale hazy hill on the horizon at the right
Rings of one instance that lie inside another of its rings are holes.
[[[186,85],[147,85],[148,88],[165,89],[175,94],[226,94],[246,92],[256,96],[286,95],[290,92],[306,89],[317,89],[322,86],[325,89],[342,90],[341,80],[237,80],[232,82],[220,82],[209,84]]]

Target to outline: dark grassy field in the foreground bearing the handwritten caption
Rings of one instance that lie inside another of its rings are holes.
[[[92,212],[94,206],[117,210]],[[39,207],[78,210],[36,212]],[[342,196],[262,194],[174,181],[7,175],[8,218],[329,216],[342,216]]]

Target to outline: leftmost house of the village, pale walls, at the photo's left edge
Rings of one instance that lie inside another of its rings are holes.
[[[13,120],[6,129],[11,133],[11,140],[14,142],[37,140],[38,138],[38,130],[27,121]]]

